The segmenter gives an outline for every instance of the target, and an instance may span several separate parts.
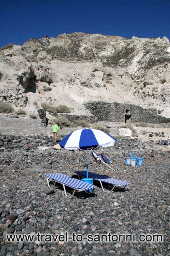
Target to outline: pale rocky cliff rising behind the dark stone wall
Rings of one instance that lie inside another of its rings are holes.
[[[37,114],[41,103],[87,115],[83,103],[156,108],[170,117],[170,43],[102,34],[31,38],[0,51],[0,101]]]

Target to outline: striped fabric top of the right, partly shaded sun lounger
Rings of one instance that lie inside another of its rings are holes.
[[[76,171],[76,174],[79,174],[80,176],[86,176],[86,172],[85,171]],[[119,185],[119,186],[127,186],[130,183],[128,183],[127,181],[122,181],[122,180],[116,180],[114,178],[108,177],[108,176],[104,176],[104,175],[100,175],[100,174],[94,174],[92,172],[88,172],[88,176],[89,178],[93,178],[94,180],[100,180],[102,182],[111,184],[111,185]]]

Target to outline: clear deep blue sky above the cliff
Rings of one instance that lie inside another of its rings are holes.
[[[0,47],[64,32],[170,39],[170,0],[1,0]]]

